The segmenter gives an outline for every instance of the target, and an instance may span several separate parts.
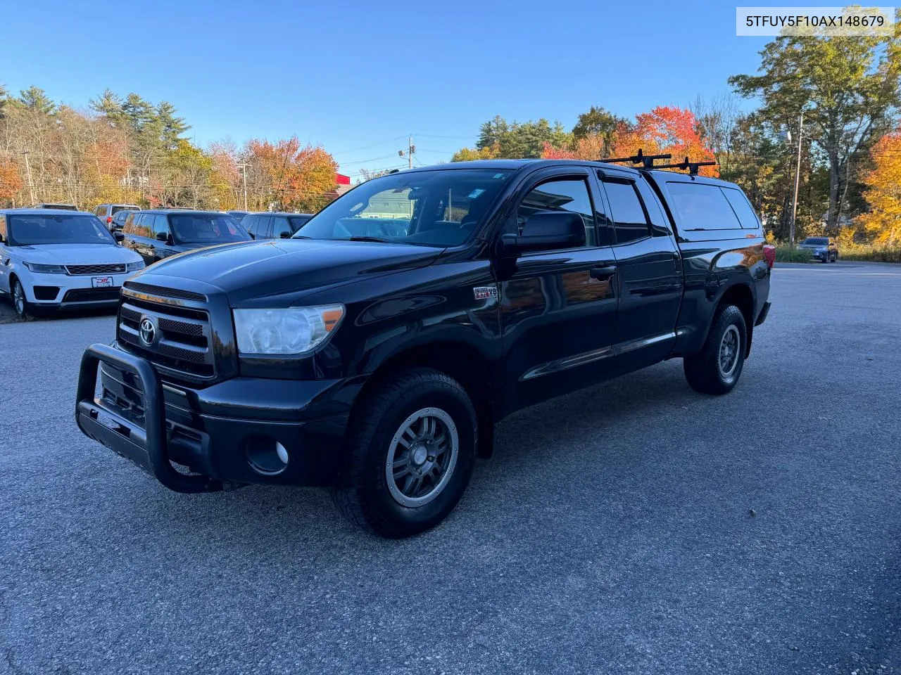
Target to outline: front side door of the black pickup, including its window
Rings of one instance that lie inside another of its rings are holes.
[[[605,379],[616,323],[615,260],[596,194],[579,166],[540,172],[523,185],[505,231],[536,211],[573,211],[586,243],[497,264],[505,351],[505,412]]]

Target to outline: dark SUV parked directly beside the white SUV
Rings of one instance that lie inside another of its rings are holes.
[[[123,246],[140,254],[148,265],[195,248],[250,241],[247,230],[230,215],[183,209],[132,211],[125,219],[123,235]]]

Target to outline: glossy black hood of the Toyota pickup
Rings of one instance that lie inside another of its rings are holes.
[[[132,279],[152,284],[153,275],[162,275],[212,284],[234,304],[428,266],[442,250],[369,241],[268,239],[181,253]]]

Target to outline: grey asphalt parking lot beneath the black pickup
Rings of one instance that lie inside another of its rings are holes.
[[[82,437],[112,316],[0,326],[0,672],[901,672],[901,266],[779,266],[742,381],[523,410],[436,530]],[[753,515],[751,514],[753,511]]]

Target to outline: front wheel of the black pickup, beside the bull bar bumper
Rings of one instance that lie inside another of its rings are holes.
[[[451,377],[415,368],[378,383],[350,420],[348,465],[332,491],[341,513],[379,536],[438,525],[476,460],[476,412]]]

